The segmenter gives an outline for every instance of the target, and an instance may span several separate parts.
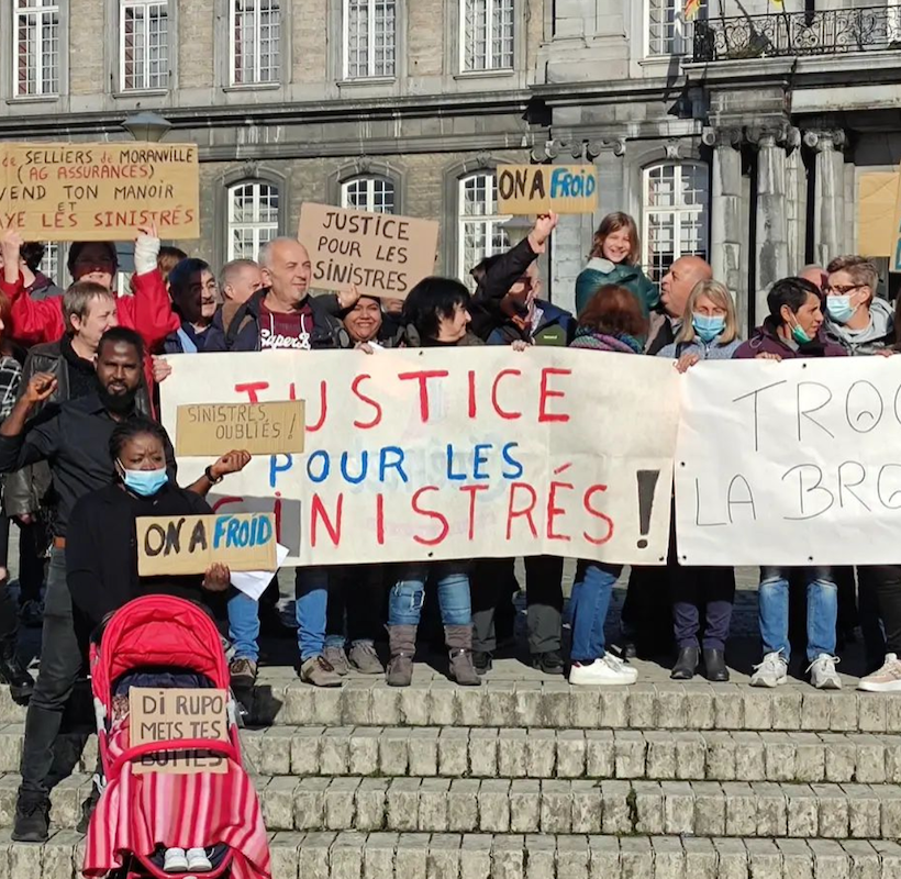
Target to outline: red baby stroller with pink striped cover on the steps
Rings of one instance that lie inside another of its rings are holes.
[[[229,689],[229,667],[215,624],[202,608],[146,596],[121,608],[100,644],[91,644],[91,687],[104,781],[86,839],[82,874],[116,879],[173,879],[168,848],[205,849],[211,870],[196,879],[269,879],[266,830],[241,761],[234,699],[229,741],[179,739],[132,747],[131,687]],[[145,755],[202,750],[225,760],[224,774],[133,771]]]

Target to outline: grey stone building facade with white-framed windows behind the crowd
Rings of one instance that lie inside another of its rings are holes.
[[[497,164],[593,162],[600,209],[561,222],[554,299],[625,210],[652,275],[699,253],[753,323],[757,291],[858,246],[860,175],[901,160],[898,0],[783,5],[0,0],[0,137],[123,140],[152,110],[200,145],[186,249],[252,256],[329,201],[438,218],[455,275],[508,241]]]

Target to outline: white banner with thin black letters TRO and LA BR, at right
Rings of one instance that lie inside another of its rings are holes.
[[[682,564],[901,563],[901,356],[703,363],[681,399]]]

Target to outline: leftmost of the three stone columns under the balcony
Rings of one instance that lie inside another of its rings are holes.
[[[737,129],[710,129],[703,135],[704,143],[713,147],[710,265],[713,277],[735,296],[742,335],[747,338],[747,276],[742,272],[742,248],[747,246],[747,218],[742,199],[742,140]]]

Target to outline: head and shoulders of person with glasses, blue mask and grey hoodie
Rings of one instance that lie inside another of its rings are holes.
[[[891,305],[876,296],[879,274],[863,256],[839,256],[826,268],[826,333],[852,356],[890,353]]]

